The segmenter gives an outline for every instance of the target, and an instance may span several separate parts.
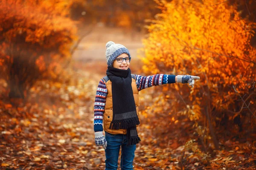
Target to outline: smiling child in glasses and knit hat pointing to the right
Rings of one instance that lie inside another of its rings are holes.
[[[100,79],[94,103],[95,143],[105,149],[106,170],[116,170],[120,147],[121,169],[132,170],[136,144],[140,142],[139,91],[153,85],[189,83],[197,76],[156,74],[144,77],[131,74],[127,48],[109,41],[106,44],[107,76]],[[102,127],[104,125],[104,128]],[[102,131],[105,131],[105,136]]]

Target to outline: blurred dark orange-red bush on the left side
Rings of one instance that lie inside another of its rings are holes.
[[[76,25],[67,17],[72,2],[0,2],[0,77],[8,83],[9,97],[24,98],[36,80],[54,76],[70,57],[76,39]]]

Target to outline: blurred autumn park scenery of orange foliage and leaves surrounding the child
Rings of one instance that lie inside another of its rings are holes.
[[[256,168],[255,0],[1,0],[0,167],[104,169],[105,44],[131,71],[200,76],[140,92],[135,169]]]

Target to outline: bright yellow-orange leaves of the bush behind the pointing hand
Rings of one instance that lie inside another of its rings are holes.
[[[177,112],[187,114],[192,121],[201,117],[207,101],[217,110],[232,107],[234,98],[228,94],[233,91],[232,85],[236,85],[239,93],[247,94],[247,86],[256,77],[255,65],[242,60],[256,61],[256,50],[248,41],[248,32],[253,33],[251,24],[239,16],[236,6],[206,4],[209,4],[206,0],[163,2],[163,12],[148,27],[148,38],[143,40],[146,74],[171,69],[176,75],[204,77],[190,91],[182,85],[172,85],[180,97],[171,105],[175,108],[184,108],[184,103],[189,105],[186,111]],[[230,20],[232,14],[236,21]],[[167,94],[165,90],[162,93]],[[184,99],[184,94],[189,97]]]

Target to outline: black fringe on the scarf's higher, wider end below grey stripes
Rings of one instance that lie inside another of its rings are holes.
[[[136,127],[136,125],[140,125],[140,120],[128,120],[125,122],[113,121],[110,124],[110,129],[128,129],[131,127]]]

